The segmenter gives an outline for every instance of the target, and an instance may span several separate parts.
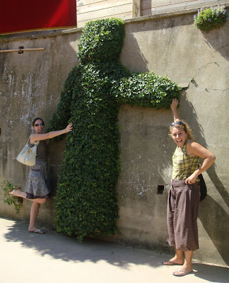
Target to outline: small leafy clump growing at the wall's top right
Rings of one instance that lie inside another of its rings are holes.
[[[198,15],[194,16],[194,25],[200,30],[209,33],[214,28],[220,28],[226,22],[224,6],[211,7],[205,10],[198,10]]]

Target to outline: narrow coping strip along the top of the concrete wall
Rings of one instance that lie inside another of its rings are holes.
[[[222,3],[220,5],[214,5],[214,6],[225,6],[225,8],[229,8],[229,1],[226,1],[225,3]],[[155,19],[158,18],[168,18],[168,17],[175,17],[175,16],[182,16],[182,15],[187,15],[187,14],[192,14],[196,13],[199,8],[211,8],[211,6],[199,6],[197,8],[190,8],[187,10],[182,10],[182,11],[168,11],[164,13],[155,13],[154,15],[150,16],[141,16],[139,18],[131,18],[128,20],[124,20],[124,23],[137,23],[137,22],[142,22],[142,21],[154,21]],[[56,37],[59,35],[69,35],[71,33],[78,33],[81,32],[83,28],[71,28],[68,30],[61,30],[57,31],[54,33],[47,33],[47,34],[42,34],[42,35],[23,35],[23,36],[16,36],[16,37],[8,37],[8,38],[1,38],[0,37],[0,43],[4,42],[12,42],[12,41],[21,41],[21,40],[37,40],[37,39],[42,39],[42,38],[49,38],[49,37]]]

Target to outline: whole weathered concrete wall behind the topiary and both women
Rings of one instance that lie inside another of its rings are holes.
[[[201,33],[193,26],[196,11],[141,17],[126,21],[121,61],[131,71],[167,75],[180,86],[180,116],[192,127],[196,141],[216,154],[216,164],[204,173],[208,196],[199,206],[200,250],[197,260],[228,265],[228,25]],[[36,116],[48,122],[59,102],[62,85],[77,61],[81,30],[45,37],[8,39],[1,50],[19,46],[44,51],[0,53],[0,178],[25,186],[28,168],[16,161],[32,132]],[[192,81],[191,81],[192,80]],[[122,173],[118,226],[122,235],[110,241],[170,250],[166,242],[166,202],[175,144],[168,136],[170,110],[123,105],[119,112]],[[50,148],[49,175],[53,195],[61,167],[64,141]],[[164,185],[162,195],[158,185]],[[2,196],[0,197],[1,202]],[[54,200],[42,205],[38,223],[54,226]],[[19,216],[1,202],[0,215],[29,219],[28,201]]]

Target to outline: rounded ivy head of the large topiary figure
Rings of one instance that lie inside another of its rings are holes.
[[[82,63],[117,61],[124,36],[124,22],[119,18],[90,21],[83,28],[78,44],[78,59]]]

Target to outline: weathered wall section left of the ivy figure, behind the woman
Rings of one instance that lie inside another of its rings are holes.
[[[33,37],[20,40],[11,39],[1,42],[1,50],[15,50],[18,47],[40,48],[42,51],[25,51],[0,53],[0,110],[1,136],[0,177],[12,183],[25,187],[29,168],[16,161],[16,156],[23,148],[30,134],[33,132],[31,122],[35,117],[42,117],[47,123],[59,102],[63,83],[72,67],[78,64],[77,41],[81,32],[68,35]],[[61,166],[61,152],[63,143],[54,151],[58,151],[57,158],[50,158],[49,171],[51,182],[56,184],[57,174]],[[51,149],[52,152],[52,149]],[[54,152],[50,154],[53,156]],[[54,168],[54,169],[53,169]],[[52,172],[54,171],[54,175]],[[54,176],[54,177],[53,177]],[[53,203],[51,200],[40,209],[40,223],[53,225]],[[12,208],[6,204],[0,206],[2,216],[28,219],[30,202],[23,203],[20,216],[12,215]]]

